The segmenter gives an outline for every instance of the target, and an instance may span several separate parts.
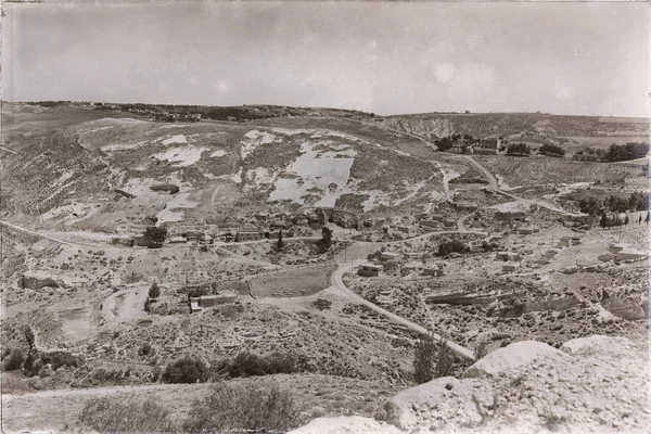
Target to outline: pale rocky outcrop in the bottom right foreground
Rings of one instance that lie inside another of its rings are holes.
[[[321,433],[648,433],[647,348],[596,335],[556,349],[516,342],[488,354],[461,380],[403,391],[380,420],[319,418],[293,431]]]

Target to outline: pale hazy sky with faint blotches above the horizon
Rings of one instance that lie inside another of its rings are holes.
[[[643,3],[4,9],[7,101],[649,115]]]

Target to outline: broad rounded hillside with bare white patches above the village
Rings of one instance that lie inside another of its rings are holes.
[[[398,135],[345,118],[264,120],[173,124],[105,107],[5,104],[4,143],[16,154],[2,154],[2,212],[48,225],[107,215],[196,221],[216,205],[365,213],[443,190],[441,168],[422,157],[431,151]],[[179,192],[151,190],[161,184]]]

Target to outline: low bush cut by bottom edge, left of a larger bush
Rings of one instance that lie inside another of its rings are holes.
[[[86,405],[79,422],[100,433],[170,433],[176,426],[169,411],[153,398],[137,401],[133,398],[104,397]]]

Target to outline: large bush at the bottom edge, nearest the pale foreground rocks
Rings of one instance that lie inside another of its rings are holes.
[[[298,409],[289,392],[277,386],[252,388],[218,383],[204,399],[197,399],[183,431],[227,432],[255,430],[288,431],[298,423]]]

